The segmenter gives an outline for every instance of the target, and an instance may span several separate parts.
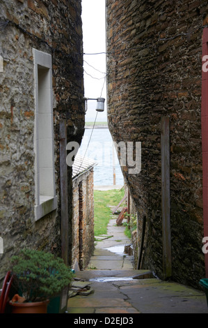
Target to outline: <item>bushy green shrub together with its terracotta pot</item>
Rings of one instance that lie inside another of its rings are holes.
[[[49,299],[72,281],[72,270],[51,253],[24,249],[11,258],[13,283],[18,295],[9,302],[13,313],[47,313]],[[21,297],[19,297],[19,295]],[[19,301],[20,300],[20,301]],[[26,309],[29,307],[29,312]]]

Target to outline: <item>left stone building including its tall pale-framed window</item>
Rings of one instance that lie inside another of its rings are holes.
[[[25,246],[72,263],[65,144],[84,132],[81,0],[1,1],[0,29],[1,279]]]

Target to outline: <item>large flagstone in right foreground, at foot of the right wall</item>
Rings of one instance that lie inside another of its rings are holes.
[[[119,288],[141,313],[208,313],[205,294],[178,283],[149,279]]]

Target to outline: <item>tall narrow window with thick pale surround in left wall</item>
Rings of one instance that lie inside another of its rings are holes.
[[[51,55],[33,49],[35,75],[35,221],[57,208]]]

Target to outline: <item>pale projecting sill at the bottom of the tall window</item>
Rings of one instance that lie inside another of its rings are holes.
[[[35,205],[35,221],[57,209],[57,196],[40,196],[40,204]]]

